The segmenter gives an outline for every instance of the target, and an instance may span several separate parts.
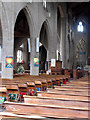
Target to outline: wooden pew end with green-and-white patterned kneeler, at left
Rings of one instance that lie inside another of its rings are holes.
[[[20,99],[20,92],[17,85],[8,85],[6,86],[7,93],[9,96],[9,101],[17,102]]]

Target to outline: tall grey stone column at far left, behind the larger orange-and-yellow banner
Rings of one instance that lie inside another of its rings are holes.
[[[3,2],[3,6],[7,5],[4,9],[2,7],[2,78],[12,79],[13,78],[13,67],[6,68],[5,58],[6,56],[13,57],[14,49],[14,3],[7,4]],[[6,10],[6,12],[5,12]]]

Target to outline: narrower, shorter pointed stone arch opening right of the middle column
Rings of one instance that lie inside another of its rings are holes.
[[[45,62],[47,61],[47,51],[48,51],[48,40],[50,38],[50,30],[49,30],[49,23],[47,20],[45,20],[42,23],[41,29],[40,29],[40,43],[42,44],[40,46],[39,51],[39,69],[45,70]]]

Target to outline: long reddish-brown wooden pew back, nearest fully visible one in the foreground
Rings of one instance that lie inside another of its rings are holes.
[[[38,105],[26,103],[5,102],[6,111],[22,115],[40,115],[51,118],[88,118],[88,110],[55,105]]]

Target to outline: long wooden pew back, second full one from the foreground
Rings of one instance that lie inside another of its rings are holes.
[[[24,95],[24,103],[28,104],[39,104],[39,105],[55,105],[69,108],[80,108],[82,110],[88,110],[88,102],[74,101],[74,100],[61,100],[52,97],[39,97],[39,96],[28,96]]]

